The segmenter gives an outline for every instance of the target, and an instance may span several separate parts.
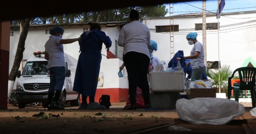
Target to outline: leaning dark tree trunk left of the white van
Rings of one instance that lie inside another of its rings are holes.
[[[20,39],[19,39],[19,43],[18,43],[18,46],[17,46],[17,51],[16,51],[16,54],[15,54],[15,59],[14,59],[14,62],[13,62],[13,66],[12,66],[12,70],[9,74],[9,87],[8,87],[8,97],[11,95],[12,93],[12,89],[13,89],[13,86],[14,86],[14,82],[15,82],[15,79],[16,79],[16,76],[17,76],[17,71],[20,67],[20,62],[23,58],[23,51],[25,50],[25,41],[26,41],[26,37],[27,37],[27,34],[29,32],[29,23],[32,19],[31,18],[26,18],[25,20],[22,20],[20,22],[21,26],[22,26],[22,31],[20,33]]]

